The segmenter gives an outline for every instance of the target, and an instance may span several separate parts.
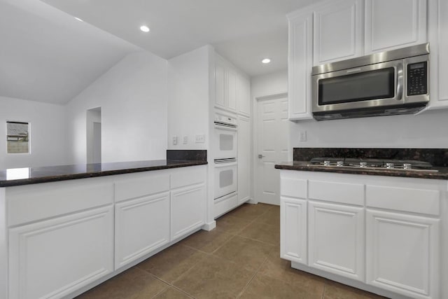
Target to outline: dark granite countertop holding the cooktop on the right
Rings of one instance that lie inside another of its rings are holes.
[[[448,167],[433,167],[438,172],[419,172],[416,170],[394,169],[363,169],[352,167],[325,167],[309,166],[307,161],[282,162],[275,165],[276,169],[300,170],[304,172],[336,172],[339,174],[367,174],[372,176],[401,176],[418,179],[444,179],[448,180]]]

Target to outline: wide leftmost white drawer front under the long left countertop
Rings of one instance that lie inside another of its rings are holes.
[[[6,188],[8,226],[113,203],[113,183],[77,179]]]

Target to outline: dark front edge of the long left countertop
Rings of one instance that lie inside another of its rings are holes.
[[[77,174],[59,174],[55,176],[41,176],[29,179],[16,179],[16,180],[1,180],[0,188],[5,187],[14,187],[14,186],[25,186],[31,185],[35,183],[51,183],[55,181],[69,181],[73,179],[88,179],[99,176],[112,176],[116,174],[131,174],[135,172],[150,172],[154,170],[162,170],[162,169],[172,169],[179,167],[190,167],[190,166],[199,166],[199,165],[207,165],[207,161],[190,161],[190,160],[179,160],[179,164],[173,165],[157,165],[151,167],[135,167],[135,168],[125,168],[125,169],[111,169],[104,170],[99,172],[80,172]]]

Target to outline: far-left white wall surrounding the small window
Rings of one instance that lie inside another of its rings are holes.
[[[0,97],[0,169],[66,164],[65,119],[64,106]],[[7,120],[30,123],[30,154],[6,153]]]

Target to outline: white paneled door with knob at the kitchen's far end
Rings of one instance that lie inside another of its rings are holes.
[[[288,99],[259,99],[255,126],[255,200],[280,204],[280,174],[274,165],[288,161]]]

